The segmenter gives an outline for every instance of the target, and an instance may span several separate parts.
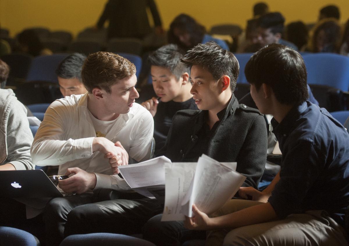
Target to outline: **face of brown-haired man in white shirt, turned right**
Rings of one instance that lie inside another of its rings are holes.
[[[135,88],[136,75],[118,80],[110,87],[110,93],[104,91],[104,108],[108,113],[126,114],[129,112],[139,94]]]

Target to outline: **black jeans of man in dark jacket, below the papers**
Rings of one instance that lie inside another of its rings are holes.
[[[206,239],[206,231],[184,228],[183,221],[161,222],[162,214],[156,215],[143,226],[143,239],[157,246],[178,246],[187,240]]]

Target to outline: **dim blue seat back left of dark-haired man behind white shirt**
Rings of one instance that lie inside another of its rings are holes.
[[[55,71],[59,63],[68,55],[69,54],[53,54],[36,56],[32,60],[27,76],[27,82],[46,81],[58,84]]]

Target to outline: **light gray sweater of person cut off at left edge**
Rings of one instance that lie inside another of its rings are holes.
[[[11,163],[16,170],[34,169],[30,157],[32,142],[24,105],[11,89],[0,89],[0,164]]]

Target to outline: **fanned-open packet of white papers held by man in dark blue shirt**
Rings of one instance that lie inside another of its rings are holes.
[[[236,163],[219,163],[202,155],[192,170],[190,184],[184,189],[187,164],[176,163],[165,167],[165,208],[162,221],[184,220],[192,217],[193,203],[207,214],[221,208],[233,197],[246,177],[236,172]]]

